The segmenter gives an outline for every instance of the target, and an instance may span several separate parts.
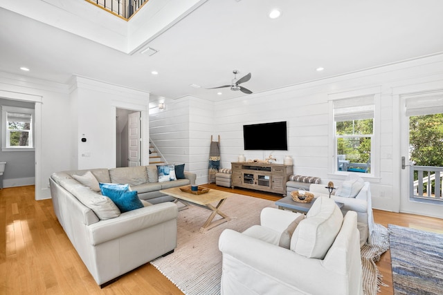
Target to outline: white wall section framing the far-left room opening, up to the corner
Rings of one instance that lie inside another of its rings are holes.
[[[35,105],[35,198],[50,198],[48,178],[55,171],[70,167],[69,90],[64,84],[0,73],[0,91],[8,99],[41,100]]]

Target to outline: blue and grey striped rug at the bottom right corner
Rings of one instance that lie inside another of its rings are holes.
[[[443,235],[388,225],[394,294],[443,294]]]

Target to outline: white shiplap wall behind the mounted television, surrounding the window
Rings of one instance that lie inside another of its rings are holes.
[[[179,115],[180,122],[188,122],[188,153],[192,155],[189,167],[191,171],[197,172],[200,183],[204,183],[207,177],[203,175],[204,158],[208,157],[209,152],[208,139],[204,140],[204,137],[220,135],[221,166],[229,167],[230,162],[237,161],[239,154],[246,155],[246,159],[264,159],[271,152],[244,151],[244,124],[287,121],[288,151],[273,151],[272,155],[277,158],[277,162],[282,163],[284,155],[291,155],[294,173],[318,176],[323,183],[332,180],[339,184],[345,176],[333,174],[333,149],[330,146],[332,122],[329,119],[328,99],[333,96],[353,97],[373,93],[375,89],[380,97],[380,120],[377,124],[381,126],[381,131],[376,143],[379,157],[375,159],[379,175],[365,177],[365,180],[371,182],[374,208],[399,211],[400,110],[392,93],[398,96],[398,89],[405,86],[408,86],[409,93],[424,91],[426,87],[431,90],[435,85],[443,88],[442,69],[443,55],[435,55],[236,99],[221,99],[213,106],[208,102],[195,105],[192,104],[195,98],[185,97],[169,102],[163,113],[151,118],[154,120],[151,124],[155,126],[154,131],[151,131],[157,133],[152,134],[152,137],[156,143],[157,139],[163,141],[165,151],[174,149],[167,147],[168,144],[187,142],[186,138],[178,140],[179,137],[185,137],[187,131],[181,130],[177,134],[179,126],[172,124],[172,118]],[[193,111],[194,108],[201,110]],[[213,114],[213,118],[208,114]],[[186,118],[186,115],[189,117]],[[210,126],[213,126],[213,131]],[[165,154],[168,158],[169,153]]]

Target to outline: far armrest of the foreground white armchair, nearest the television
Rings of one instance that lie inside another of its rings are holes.
[[[260,225],[282,233],[302,213],[266,207],[260,213]]]

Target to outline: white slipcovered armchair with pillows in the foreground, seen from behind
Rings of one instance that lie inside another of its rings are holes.
[[[290,249],[280,247],[272,233],[281,235],[300,213],[265,208],[260,226],[244,233],[225,229],[219,238],[223,254],[221,294],[363,294],[356,213],[349,212],[343,219],[335,202],[322,199],[323,204],[317,204],[316,200],[309,211],[311,216],[308,212],[307,218],[296,227]],[[324,218],[323,205],[329,209],[336,207],[330,218]],[[333,225],[327,225],[329,220]],[[334,227],[338,234],[330,236]],[[327,245],[325,236],[329,236],[332,245]],[[311,245],[312,242],[316,245]],[[311,257],[318,255],[314,253],[318,250],[316,246],[324,248],[324,257]]]

